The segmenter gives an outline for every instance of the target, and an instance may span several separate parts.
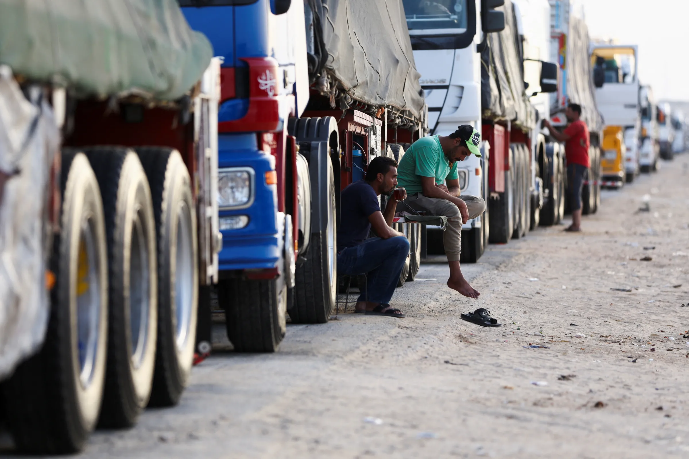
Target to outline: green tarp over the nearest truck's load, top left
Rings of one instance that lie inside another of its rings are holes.
[[[212,56],[175,0],[0,0],[0,64],[81,96],[176,100]]]

